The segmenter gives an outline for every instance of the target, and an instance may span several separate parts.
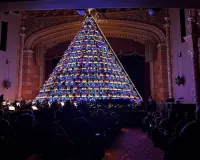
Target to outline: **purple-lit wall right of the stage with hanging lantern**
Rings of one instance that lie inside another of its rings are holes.
[[[185,27],[186,35],[188,26],[188,10],[185,10]],[[181,42],[181,25],[180,25],[180,14],[179,9],[170,9],[170,20],[171,20],[171,54],[172,54],[172,68],[173,78],[178,76],[185,77],[185,84],[178,86],[174,83],[174,97],[175,99],[184,98],[184,103],[193,103],[192,97],[192,66],[191,57],[188,54],[188,43]],[[182,57],[177,58],[177,54]],[[177,60],[178,59],[178,60]]]

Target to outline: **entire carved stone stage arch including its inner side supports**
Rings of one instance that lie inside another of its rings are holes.
[[[27,66],[27,69],[24,68],[23,76],[28,77],[30,79],[31,76],[37,75],[38,79],[34,79],[36,82],[33,83],[26,83],[28,86],[24,86],[22,88],[22,97],[25,99],[31,99],[36,96],[36,93],[39,91],[39,88],[43,84],[43,77],[44,77],[44,54],[47,49],[52,48],[59,43],[72,40],[76,33],[79,31],[82,23],[81,22],[70,22],[61,25],[56,25],[53,27],[49,27],[38,31],[31,36],[25,42],[25,52],[32,50],[34,54],[32,54],[32,59],[29,64],[35,63],[35,71],[32,73],[27,72],[26,70],[31,68]],[[160,96],[158,100],[165,98],[164,92],[167,90],[167,85],[162,85],[162,89],[160,91],[154,92],[154,84],[156,84],[155,74],[160,72],[155,72],[157,69],[154,68],[154,63],[157,61],[156,59],[156,52],[160,50],[156,48],[158,44],[165,44],[165,34],[164,32],[150,24],[145,24],[141,22],[133,22],[133,21],[123,21],[123,20],[106,20],[106,21],[98,21],[98,25],[100,26],[101,30],[103,31],[106,37],[117,37],[117,38],[126,38],[131,39],[136,42],[140,42],[142,44],[150,44],[154,48],[151,50],[150,55],[147,57],[154,57],[150,58],[150,74],[151,74],[151,91],[153,97],[156,98],[155,93],[163,95]],[[162,45],[163,46],[163,45]],[[162,54],[165,54],[162,47]],[[149,54],[149,53],[147,53]],[[25,54],[26,55],[26,54]],[[29,57],[30,59],[30,57]],[[160,59],[159,59],[160,61]],[[162,65],[162,62],[159,63]],[[167,67],[163,67],[167,68]],[[33,74],[34,73],[34,74]],[[166,73],[167,75],[167,73]],[[27,78],[27,79],[28,79]],[[162,78],[162,77],[161,77]],[[26,78],[24,78],[26,79]],[[30,81],[30,80],[29,80]],[[160,80],[162,81],[162,80]],[[163,82],[166,83],[167,82]],[[34,88],[34,93],[28,93],[27,88]],[[37,90],[37,91],[36,91]],[[162,93],[161,93],[162,92]]]

